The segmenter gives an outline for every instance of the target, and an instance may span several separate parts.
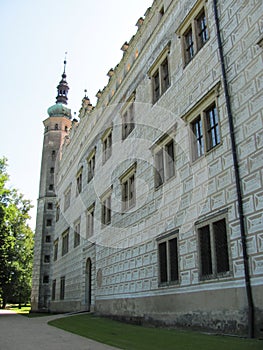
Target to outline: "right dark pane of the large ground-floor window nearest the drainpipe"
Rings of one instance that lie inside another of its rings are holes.
[[[227,233],[225,219],[213,223],[217,273],[229,271]]]

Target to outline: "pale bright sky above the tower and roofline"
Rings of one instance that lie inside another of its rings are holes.
[[[31,200],[34,230],[43,120],[55,103],[67,52],[68,107],[93,105],[153,0],[0,0],[0,157],[9,186]]]

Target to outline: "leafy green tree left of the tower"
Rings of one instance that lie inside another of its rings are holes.
[[[31,204],[9,189],[7,160],[0,158],[0,299],[26,302],[31,290],[33,232],[27,225]]]

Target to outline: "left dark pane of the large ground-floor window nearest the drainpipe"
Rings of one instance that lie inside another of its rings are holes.
[[[201,275],[203,277],[212,274],[212,257],[209,226],[204,226],[198,230],[200,242]]]

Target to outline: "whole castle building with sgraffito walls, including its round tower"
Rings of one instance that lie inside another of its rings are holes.
[[[79,121],[64,70],[44,121],[33,310],[260,334],[262,10],[155,0]]]

